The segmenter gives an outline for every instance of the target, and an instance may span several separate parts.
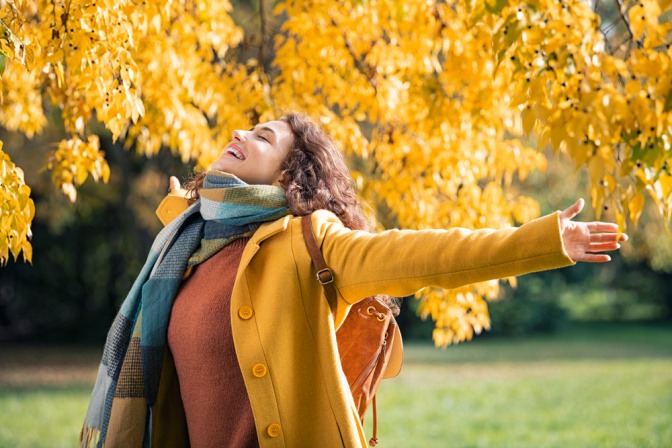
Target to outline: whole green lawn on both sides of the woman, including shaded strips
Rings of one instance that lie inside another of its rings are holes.
[[[0,347],[0,447],[75,446],[99,355]],[[672,327],[407,344],[378,397],[382,448],[672,447]]]

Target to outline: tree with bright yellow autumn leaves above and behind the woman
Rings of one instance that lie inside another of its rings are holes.
[[[586,167],[593,206],[622,228],[647,195],[672,217],[670,0],[286,0],[272,63],[266,3],[252,55],[228,1],[5,1],[0,123],[32,135],[45,109],[61,111],[70,137],[48,166],[73,200],[89,176],[109,176],[94,121],[140,153],[165,146],[203,167],[232,129],[301,108],[386,224],[536,217],[515,181],[546,159],[525,134]],[[419,312],[437,344],[469,339],[498,290],[425,291]]]

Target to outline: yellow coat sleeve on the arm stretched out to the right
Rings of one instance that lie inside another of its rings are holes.
[[[407,296],[426,286],[456,288],[574,264],[560,235],[559,212],[501,230],[349,230],[313,214],[322,253],[348,303],[374,294]]]

